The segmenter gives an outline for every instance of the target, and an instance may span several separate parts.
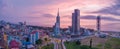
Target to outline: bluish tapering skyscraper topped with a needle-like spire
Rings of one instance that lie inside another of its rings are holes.
[[[54,25],[54,32],[55,35],[60,35],[60,16],[59,16],[59,9],[56,17],[56,23]]]

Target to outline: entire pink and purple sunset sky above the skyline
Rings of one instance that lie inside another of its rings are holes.
[[[0,0],[0,20],[51,27],[58,8],[61,28],[71,26],[72,12],[80,9],[81,27],[95,29],[101,15],[102,30],[120,31],[120,0]]]

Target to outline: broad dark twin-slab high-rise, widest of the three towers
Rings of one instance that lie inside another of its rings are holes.
[[[80,10],[75,9],[74,13],[72,13],[72,34],[79,35],[80,34]]]

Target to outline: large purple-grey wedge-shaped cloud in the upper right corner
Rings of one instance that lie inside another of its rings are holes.
[[[105,7],[99,11],[89,12],[89,13],[102,13],[102,14],[111,14],[111,15],[120,16],[120,0],[116,0],[114,2],[114,5],[111,5],[110,7]]]

